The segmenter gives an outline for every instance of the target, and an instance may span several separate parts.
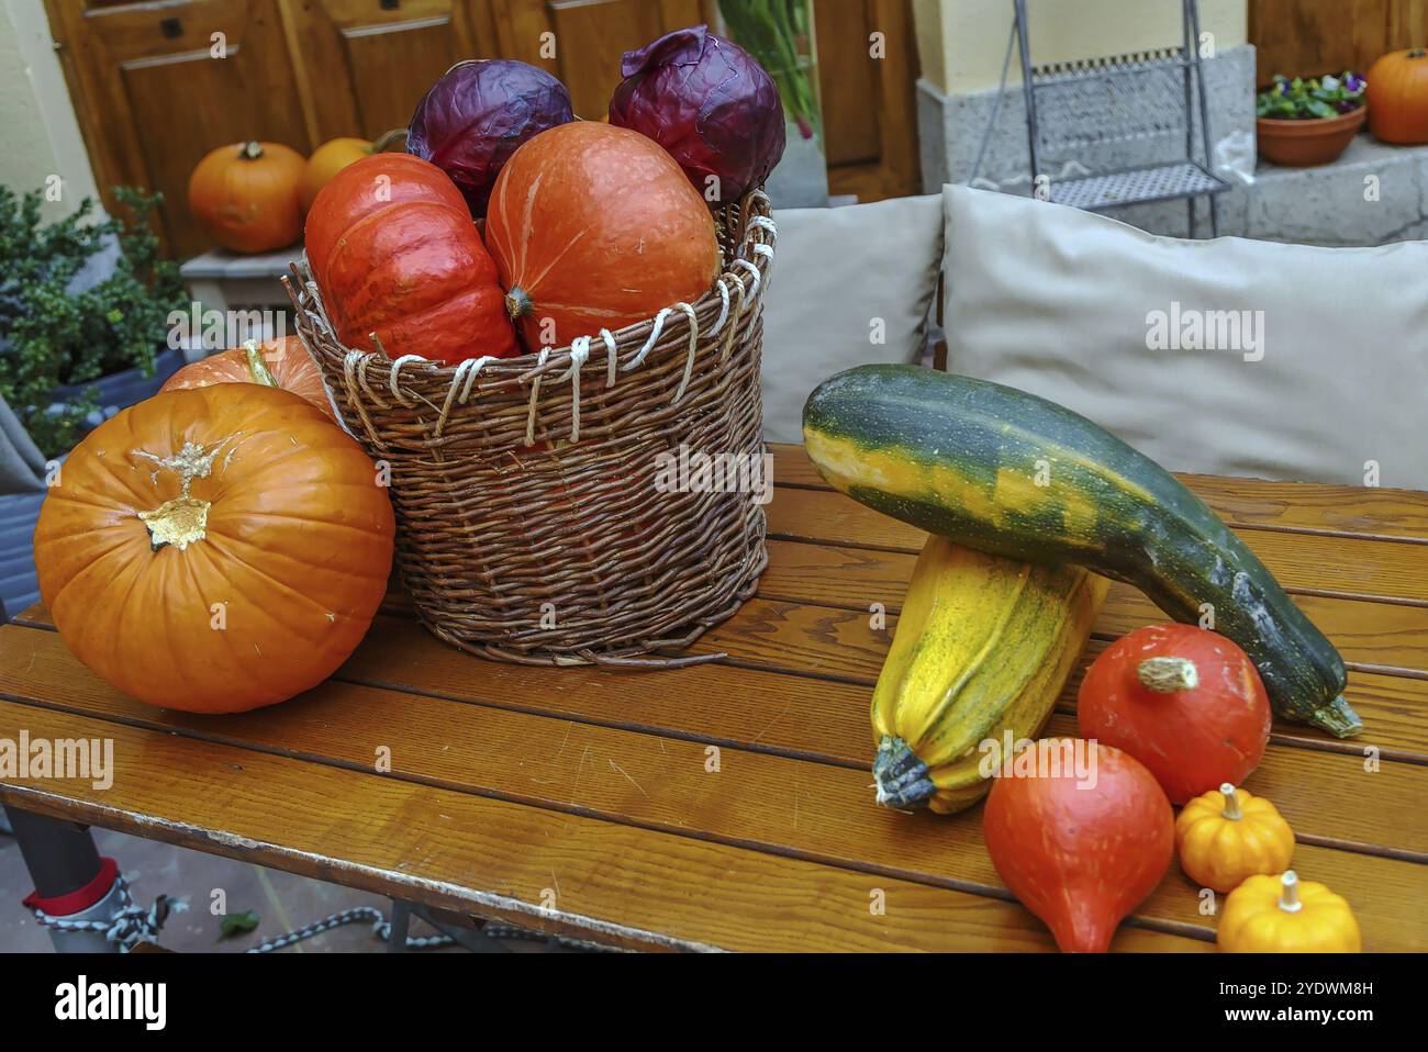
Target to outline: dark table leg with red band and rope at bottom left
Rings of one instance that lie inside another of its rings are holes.
[[[107,919],[116,905],[117,882],[111,874],[107,881],[109,888],[93,888],[100,879],[104,862],[99,856],[89,826],[36,815],[13,805],[6,808],[6,815],[14,831],[16,844],[20,845],[20,856],[30,871],[30,879],[34,881],[34,895],[39,899],[56,901],[90,889],[83,895],[83,902],[76,902],[74,908],[61,916],[66,921]],[[46,912],[56,915],[53,908]],[[117,954],[120,949],[117,944],[106,939],[103,932],[59,928],[50,928],[49,932],[57,954]]]

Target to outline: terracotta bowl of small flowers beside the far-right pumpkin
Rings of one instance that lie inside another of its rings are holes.
[[[1277,74],[1255,106],[1259,156],[1295,168],[1328,164],[1362,127],[1367,87],[1362,77],[1347,70],[1342,77],[1308,80]]]

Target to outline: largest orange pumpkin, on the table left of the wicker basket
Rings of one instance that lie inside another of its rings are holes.
[[[243,712],[316,687],[387,588],[394,521],[373,462],[296,394],[166,391],[60,468],[34,562],[60,635],[150,705]]]

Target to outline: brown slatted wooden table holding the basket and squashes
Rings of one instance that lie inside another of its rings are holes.
[[[114,784],[0,782],[0,799],[624,946],[1051,948],[997,879],[980,808],[873,802],[868,698],[922,535],[828,490],[797,447],[775,457],[770,568],[695,647],[721,662],[491,664],[394,595],[330,682],[200,718],[110,689],[33,608],[0,628],[0,737],[113,738]],[[1352,902],[1367,949],[1428,949],[1428,494],[1187,481],[1338,645],[1364,718],[1357,741],[1277,724],[1248,788],[1292,822],[1295,868]],[[1152,619],[1115,585],[1090,654]],[[1051,732],[1075,732],[1074,698]],[[1212,951],[1195,892],[1172,869],[1115,948]]]

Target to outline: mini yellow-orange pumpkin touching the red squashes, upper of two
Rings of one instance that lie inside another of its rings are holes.
[[[1190,879],[1230,892],[1247,876],[1288,869],[1294,829],[1264,796],[1225,782],[1181,809],[1175,819],[1175,849]]]

